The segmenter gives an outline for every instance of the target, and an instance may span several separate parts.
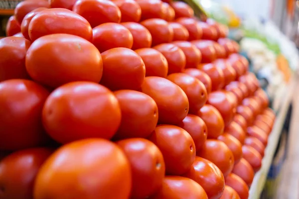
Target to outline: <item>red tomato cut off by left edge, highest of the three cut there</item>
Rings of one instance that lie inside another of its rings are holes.
[[[9,79],[28,79],[25,55],[30,41],[21,37],[0,39],[0,82]]]

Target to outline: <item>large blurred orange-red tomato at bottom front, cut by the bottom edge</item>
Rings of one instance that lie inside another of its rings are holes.
[[[130,163],[123,151],[113,142],[93,138],[66,144],[46,160],[35,180],[34,199],[128,199],[131,188]]]

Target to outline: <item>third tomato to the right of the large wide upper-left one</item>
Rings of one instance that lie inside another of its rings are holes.
[[[153,47],[162,53],[168,63],[168,74],[181,73],[186,66],[186,56],[177,45],[171,43],[160,44]]]

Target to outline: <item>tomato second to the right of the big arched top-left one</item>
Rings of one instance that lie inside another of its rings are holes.
[[[133,35],[132,50],[151,46],[151,34],[145,26],[135,22],[124,22],[122,25],[128,28]]]

